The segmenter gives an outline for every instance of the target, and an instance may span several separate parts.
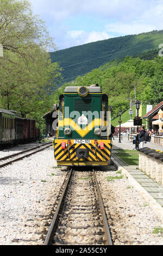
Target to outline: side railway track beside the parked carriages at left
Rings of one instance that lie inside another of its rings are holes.
[[[48,144],[48,145],[47,145],[47,144]],[[49,144],[50,144],[50,145],[49,145]],[[23,150],[23,151],[21,151],[21,152],[19,152],[19,153],[15,153],[15,154],[12,154],[12,155],[9,155],[9,156],[2,157],[2,158],[0,159],[0,168],[1,168],[1,167],[4,167],[4,166],[7,166],[7,165],[10,164],[10,163],[19,161],[19,160],[23,159],[24,157],[28,157],[28,156],[30,156],[30,155],[36,154],[37,152],[40,152],[41,150],[44,150],[44,149],[46,149],[46,148],[48,148],[48,147],[51,147],[51,145],[52,145],[52,142],[48,142],[48,143],[39,145],[39,146],[34,147],[34,148],[31,148],[31,149]],[[44,146],[45,146],[45,147],[44,147]],[[35,150],[35,149],[37,149],[37,148],[41,148],[41,149]],[[34,151],[33,151],[33,150],[34,150]],[[29,152],[29,151],[32,151],[32,152],[26,154],[26,153]],[[17,158],[14,158],[15,156],[22,155],[22,154],[25,154],[25,155],[20,156],[20,157],[17,157]],[[8,159],[10,159],[10,158],[11,158],[10,161],[1,163],[1,161],[5,161],[5,160],[8,160]]]

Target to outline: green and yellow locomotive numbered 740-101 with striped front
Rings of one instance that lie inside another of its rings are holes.
[[[60,95],[54,157],[58,166],[107,166],[111,114],[100,87],[66,87]]]

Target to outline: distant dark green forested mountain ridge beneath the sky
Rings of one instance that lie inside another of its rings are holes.
[[[163,42],[163,31],[152,31],[139,35],[126,35],[107,40],[91,42],[65,50],[51,52],[52,62],[58,62],[63,68],[62,76],[65,81],[72,81],[77,76],[99,68],[111,60],[126,56],[139,56],[140,53],[152,49],[158,51]],[[153,52],[153,53],[155,53]],[[150,51],[142,58],[151,57]]]

